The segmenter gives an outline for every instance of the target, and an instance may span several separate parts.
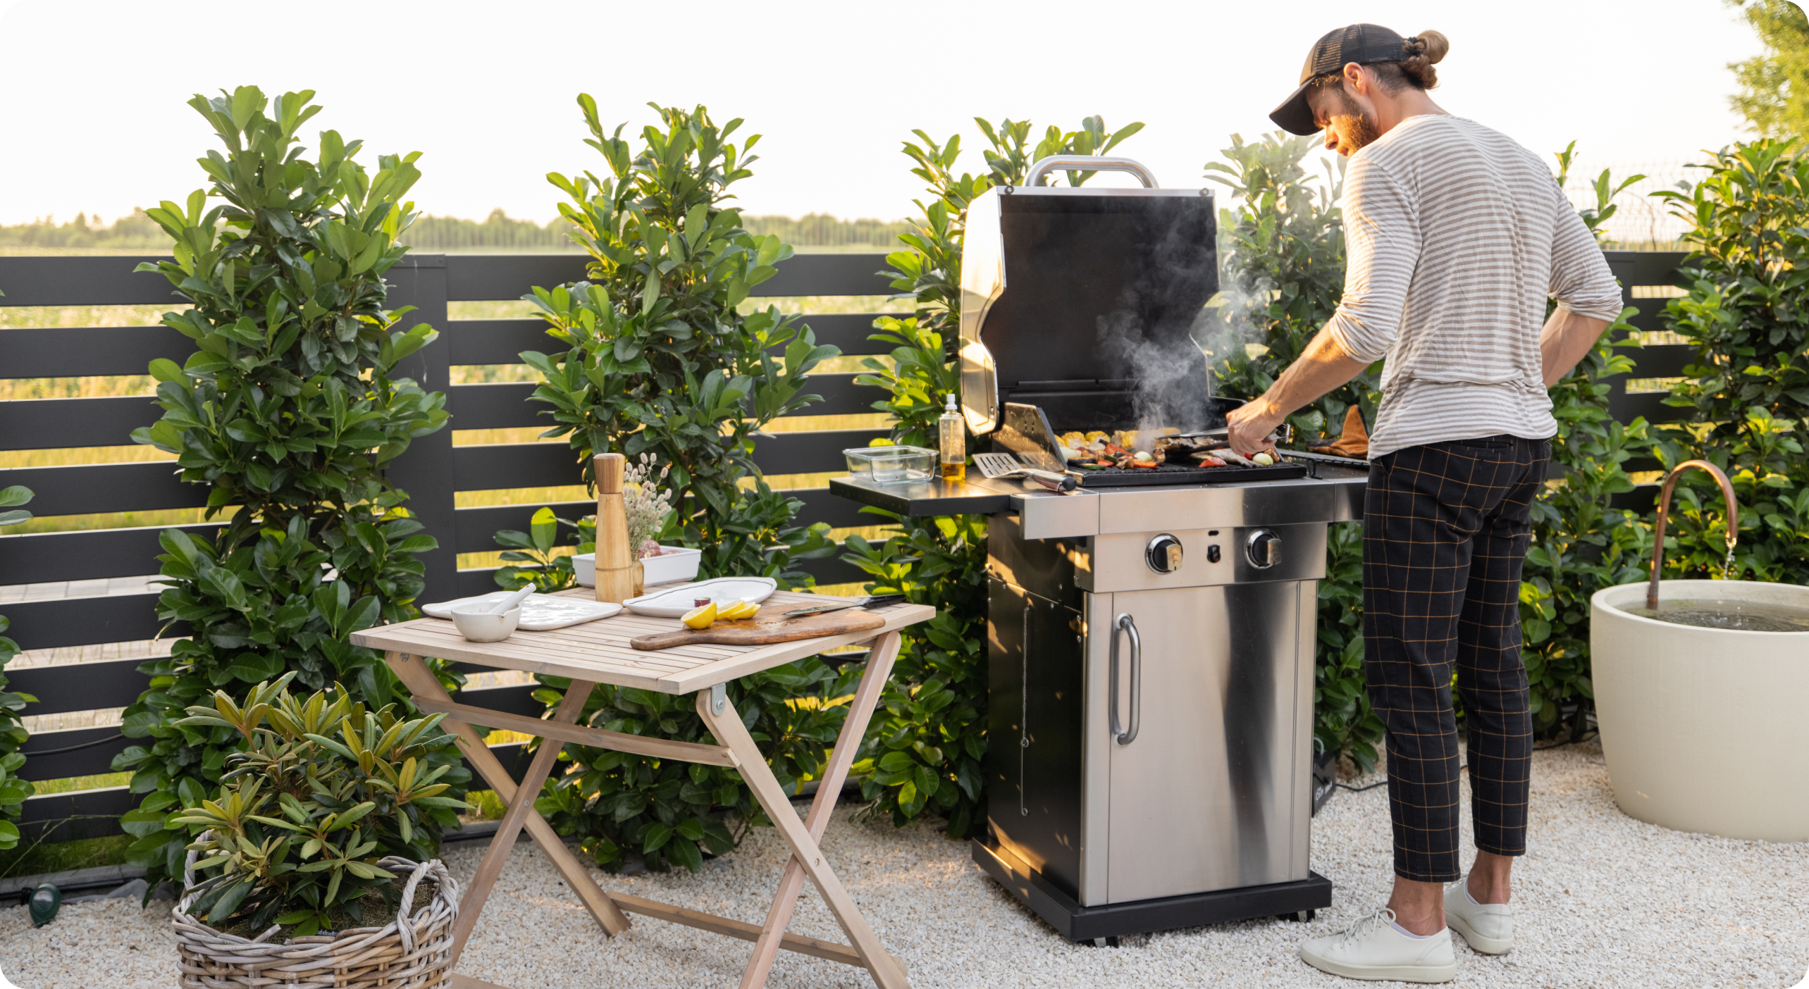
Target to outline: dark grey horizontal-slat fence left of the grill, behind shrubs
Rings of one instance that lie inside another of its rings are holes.
[[[29,260],[31,264],[16,264],[20,260]],[[168,282],[159,275],[132,273],[132,268],[139,260],[143,259],[0,259],[0,286],[7,286],[9,291],[4,304],[177,304],[179,300],[174,293],[170,293]],[[456,259],[449,266],[443,257],[411,257],[405,264],[391,271],[389,277],[394,286],[391,293],[393,306],[400,307],[412,304],[418,307],[414,318],[447,329],[447,333],[441,334],[434,345],[411,358],[409,365],[405,365],[402,372],[416,378],[429,389],[440,387],[449,391],[449,407],[456,416],[459,414],[461,398],[487,398],[494,392],[459,394],[463,389],[447,389],[447,376],[454,353],[461,363],[508,363],[519,360],[517,354],[523,349],[550,349],[550,344],[554,342],[545,336],[545,329],[535,320],[447,320],[445,302],[449,298],[514,298],[519,297],[528,284],[555,284],[559,280],[570,280],[579,277],[582,269],[581,264],[572,266],[572,259],[505,257],[503,260],[507,262],[501,266],[503,271],[497,271],[497,266],[488,266],[488,280],[483,280],[487,266],[481,259]],[[810,262],[803,264],[803,268],[809,266]],[[787,264],[781,268],[781,273],[787,273],[787,277],[763,286],[763,291],[767,295],[886,293],[888,287],[872,278],[872,271],[877,271],[879,266],[879,259],[872,255],[834,257],[827,262],[827,275],[791,271],[792,266]],[[454,275],[452,278],[449,278],[449,271]],[[845,282],[850,273],[863,280],[854,286],[838,286],[838,280]],[[463,282],[459,278],[463,278]],[[14,291],[11,287],[20,282],[31,282],[31,291]],[[456,286],[450,291],[449,282]],[[107,291],[96,291],[96,284],[109,284],[112,287]],[[496,295],[497,286],[503,286],[503,295]],[[865,340],[870,333],[872,320],[874,316],[868,315],[830,315],[814,316],[810,324],[818,331],[819,342],[836,344],[845,353],[886,353],[890,349],[888,345]],[[476,325],[465,327],[456,324]],[[496,324],[503,325],[497,327]],[[503,333],[496,333],[497,329]],[[478,334],[481,334],[481,338]],[[456,342],[461,338],[472,340],[472,345],[459,347]],[[0,345],[5,347],[0,354],[7,358],[0,363],[0,369],[5,369],[0,372],[5,372],[7,376],[143,374],[145,365],[152,358],[168,356],[181,362],[186,360],[192,351],[188,338],[168,327],[0,331]],[[865,412],[868,410],[867,405],[877,398],[877,394],[856,398],[852,381],[847,378],[830,380],[825,381],[825,385],[839,387],[839,394],[832,396],[838,401],[836,410],[852,403],[850,410]],[[818,391],[823,389],[819,387]],[[148,425],[156,419],[156,409],[150,405],[148,398],[45,400],[42,403],[9,405],[11,407],[0,405],[0,410],[9,416],[0,419],[0,448],[5,448],[7,438],[13,434],[24,434],[18,436],[18,445],[13,448],[121,445],[123,439],[128,441],[127,436],[130,429]],[[485,410],[478,401],[467,401],[467,405],[470,405],[470,418],[467,421],[472,429],[481,429],[485,425],[483,418],[494,416],[494,412]],[[134,416],[134,409],[143,412]],[[812,409],[812,412],[825,414],[829,412],[829,407],[825,403],[825,407]],[[465,423],[456,421],[454,425]],[[526,425],[539,423],[530,419]],[[809,434],[776,436],[762,441],[760,461],[763,465],[771,463],[772,466],[767,466],[767,470],[772,474],[781,470],[834,470],[841,463],[839,448],[843,445],[865,445],[870,436],[872,434],[865,430],[857,434],[829,436],[827,441],[823,438],[812,441]],[[443,551],[436,553],[443,557],[441,560],[436,560],[440,566],[434,568],[431,564],[431,570],[440,571],[436,575],[440,577],[440,582],[445,582],[447,577],[458,577],[452,570],[456,551],[488,550],[494,546],[490,539],[494,530],[481,532],[478,546],[459,544],[458,530],[463,528],[465,532],[472,532],[472,528],[459,526],[458,517],[461,512],[452,512],[452,490],[458,488],[456,477],[459,470],[481,470],[487,456],[487,452],[479,450],[461,461],[450,447],[450,434],[441,432],[436,438],[418,441],[407,457],[400,459],[393,468],[393,479],[398,486],[409,488],[411,494],[414,494],[411,506],[429,521],[429,532],[441,539],[441,546],[445,546]],[[530,463],[532,456],[545,457],[546,454],[532,450]],[[564,470],[561,476],[550,479],[548,485],[564,485],[573,479],[575,466],[570,465],[570,457],[566,457]],[[40,513],[56,515],[194,508],[204,504],[206,497],[204,488],[181,485],[175,479],[175,468],[166,461],[4,470],[0,472],[0,483],[24,483],[31,486],[38,492],[38,499],[33,508]],[[523,486],[534,485],[532,481],[516,483]],[[809,492],[803,499],[807,501],[807,521],[832,521],[836,524],[845,521],[861,524],[868,521],[845,519],[848,515],[847,506],[829,501],[827,492]],[[438,504],[431,506],[429,501]],[[47,512],[45,506],[49,504],[54,504],[56,510]],[[823,519],[809,517],[809,506],[829,508],[830,504],[834,510],[823,512]],[[434,512],[434,508],[438,508],[438,512]],[[528,512],[532,512],[532,508]],[[210,530],[215,526],[203,524],[192,528]],[[76,546],[78,537],[83,541],[80,546]],[[4,562],[5,570],[0,573],[7,573],[7,577],[0,579],[0,582],[56,579],[80,580],[137,575],[154,570],[152,560],[157,551],[156,530],[43,533],[42,537],[31,539],[31,542],[16,546],[16,550],[31,550],[31,553],[20,553],[16,564],[11,560]],[[14,546],[7,546],[7,550],[14,550]],[[134,551],[143,553],[143,566],[130,566],[128,560]],[[87,560],[87,564],[71,562],[69,566],[62,566],[54,571],[40,570],[33,577],[31,557],[63,557],[69,560]],[[812,566],[821,570],[825,579],[857,579],[857,573],[845,575],[836,571],[838,566],[848,570],[838,560],[812,560]],[[25,575],[14,577],[22,570]],[[488,573],[479,571],[476,577],[483,577],[485,582],[485,586],[478,589],[490,589],[494,586],[488,580]],[[90,645],[99,642],[148,638],[154,635],[156,622],[150,608],[154,597],[156,595],[114,595],[24,602],[11,606],[7,611],[14,618],[13,631],[20,633],[27,647]],[[165,635],[186,635],[186,629],[177,626],[165,629]],[[33,674],[25,678],[25,683],[16,685],[16,689],[36,685],[45,694],[72,698],[81,696],[78,691],[71,689],[72,678],[81,678],[83,674],[109,676],[110,687],[101,692],[90,691],[81,703],[89,707],[119,707],[136,700],[137,691],[145,685],[145,676],[136,671],[136,665],[137,660],[78,664],[74,667],[62,669],[45,667],[45,671],[33,671]],[[532,700],[532,689],[534,687],[505,687],[472,691],[467,694],[467,700],[503,711],[537,714],[541,705]],[[34,705],[31,712],[67,711],[71,709],[67,703],[76,702],[65,700]],[[54,776],[89,776],[107,772],[112,758],[127,745],[130,745],[130,739],[118,738],[118,732],[109,729],[43,732],[27,745],[27,752],[45,752],[38,756],[34,770],[27,772],[31,772],[31,776],[40,776],[36,770]],[[514,765],[519,750],[519,745],[496,747],[496,752],[503,758],[505,765]],[[116,834],[116,823],[105,817],[118,815],[119,812],[136,806],[136,801],[137,797],[127,794],[123,788],[96,790],[81,796],[34,797],[25,814],[25,823],[29,824],[27,832],[38,832],[47,824],[67,819],[71,814],[85,812],[99,814],[103,819],[69,823],[58,830],[56,837]]]

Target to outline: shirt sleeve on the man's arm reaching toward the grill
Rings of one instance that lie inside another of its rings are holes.
[[[1406,192],[1368,159],[1344,175],[1344,298],[1326,333],[1346,354],[1377,362],[1400,333],[1420,230]]]

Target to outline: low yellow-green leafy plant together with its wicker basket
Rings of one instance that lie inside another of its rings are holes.
[[[438,985],[452,960],[458,882],[427,861],[431,808],[450,767],[427,756],[454,745],[443,714],[402,720],[344,687],[302,700],[295,673],[224,691],[181,725],[230,727],[219,797],[172,823],[204,828],[188,844],[175,906],[181,985]]]

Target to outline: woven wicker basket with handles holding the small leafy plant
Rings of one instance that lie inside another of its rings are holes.
[[[409,873],[402,891],[403,913],[384,928],[353,928],[336,935],[289,938],[273,944],[279,928],[255,938],[226,935],[188,915],[197,893],[195,853],[183,870],[183,899],[170,911],[181,955],[183,989],[429,989],[452,978],[452,918],[458,917],[458,881],[440,859],[411,862],[387,857],[380,862],[398,875]],[[434,882],[434,899],[407,917],[420,882]]]

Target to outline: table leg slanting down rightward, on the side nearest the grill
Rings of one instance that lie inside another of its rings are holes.
[[[772,819],[778,828],[780,837],[792,850],[792,861],[803,866],[805,875],[816,882],[816,890],[829,902],[829,911],[841,924],[841,931],[848,937],[848,944],[859,953],[861,962],[867,964],[867,971],[872,973],[874,982],[881,989],[910,989],[904,973],[892,964],[892,956],[886,955],[885,947],[879,946],[879,937],[861,917],[859,908],[854,906],[854,899],[836,879],[836,871],[829,868],[823,861],[823,850],[818,848],[816,839],[805,828],[803,821],[798,819],[798,812],[792,810],[791,799],[785,796],[785,788],[772,776],[772,767],[767,765],[765,756],[760,754],[760,747],[754,745],[754,738],[747,734],[747,725],[742,723],[742,716],[736,714],[734,705],[727,700],[722,702],[722,711],[713,711],[715,703],[711,700],[711,691],[698,691],[696,694],[696,712],[709,725],[711,734],[716,741],[729,747],[736,761],[740,763],[742,779],[747,788],[754,792],[754,799]],[[854,718],[854,712],[848,712]],[[839,749],[839,745],[838,745]]]

